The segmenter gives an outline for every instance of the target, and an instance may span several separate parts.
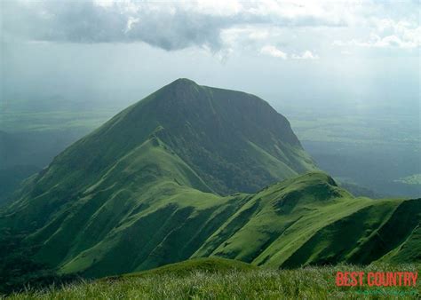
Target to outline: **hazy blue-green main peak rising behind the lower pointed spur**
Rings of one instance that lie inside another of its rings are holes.
[[[207,183],[205,192],[253,193],[274,181],[314,170],[290,122],[263,99],[201,86],[187,78],[167,84],[117,114],[55,162],[71,159],[84,169],[89,164],[95,170],[89,173],[94,181],[104,171],[98,170],[99,165],[115,163],[152,136]],[[91,149],[98,150],[93,154]]]

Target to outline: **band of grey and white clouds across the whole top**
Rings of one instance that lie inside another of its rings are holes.
[[[406,21],[399,21],[401,16],[393,15],[390,5],[371,0],[15,0],[2,2],[1,38],[52,43],[140,42],[166,51],[199,47],[219,55],[244,49],[261,52],[268,44],[282,45],[284,53],[309,48],[319,51],[324,44],[332,45],[330,33],[334,33],[334,45],[408,49],[421,43],[420,28],[414,25],[419,24],[417,8],[408,5],[401,18]],[[379,17],[383,14],[389,19]],[[347,35],[338,35],[336,30]],[[367,32],[378,37],[364,39]],[[343,40],[338,40],[339,36]],[[306,51],[291,56],[316,57]]]

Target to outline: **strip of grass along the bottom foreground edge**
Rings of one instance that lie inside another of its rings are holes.
[[[183,263],[181,263],[183,264]],[[337,287],[337,271],[418,271],[419,265],[357,267],[306,267],[295,270],[237,268],[222,271],[205,267],[188,271],[166,267],[163,272],[140,272],[102,280],[83,281],[62,287],[13,294],[11,299],[279,299],[279,298],[417,298],[412,287]]]

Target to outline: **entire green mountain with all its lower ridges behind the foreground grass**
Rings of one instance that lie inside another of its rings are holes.
[[[88,277],[210,256],[419,261],[420,210],[419,199],[354,198],[264,100],[179,79],[28,178],[0,238],[7,257]]]

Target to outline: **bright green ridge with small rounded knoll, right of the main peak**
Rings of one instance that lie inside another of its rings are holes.
[[[313,172],[254,194],[193,257],[282,267],[369,264],[404,247],[409,235],[415,239],[420,220],[419,199],[353,198],[326,174]],[[419,261],[419,255],[406,261]]]

